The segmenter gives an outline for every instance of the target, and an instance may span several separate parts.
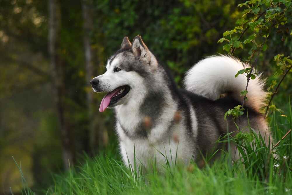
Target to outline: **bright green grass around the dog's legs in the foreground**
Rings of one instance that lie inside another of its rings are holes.
[[[292,127],[291,104],[285,111],[286,116],[270,115],[274,143]],[[242,163],[231,165],[225,153],[222,159],[203,169],[196,164],[165,166],[161,172],[149,170],[141,177],[123,165],[117,147],[113,146],[67,173],[54,175],[51,187],[37,194],[292,194],[292,134],[275,148],[275,158],[261,137],[251,135],[253,139],[240,142]],[[33,192],[25,186],[23,194]]]

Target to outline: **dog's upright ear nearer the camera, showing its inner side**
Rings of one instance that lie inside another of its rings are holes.
[[[133,54],[136,58],[140,58],[143,60],[145,63],[152,65],[152,66],[157,66],[157,60],[154,57],[154,55],[149,51],[148,47],[145,45],[145,43],[142,41],[140,35],[136,36],[133,39],[132,43],[132,50]]]

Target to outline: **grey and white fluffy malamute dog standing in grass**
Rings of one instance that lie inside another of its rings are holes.
[[[121,48],[108,59],[106,72],[90,83],[94,92],[107,92],[99,111],[115,109],[124,163],[147,168],[150,159],[157,164],[199,162],[214,148],[225,148],[217,140],[238,129],[231,117],[224,120],[224,114],[242,104],[240,92],[246,88],[246,77],[235,75],[248,67],[230,56],[207,57],[186,73],[185,89],[179,89],[138,35],[132,43],[124,37]],[[267,92],[260,76],[249,80],[240,120],[241,127],[250,125],[268,143],[269,129],[260,114]],[[235,145],[231,153],[233,160],[239,159]]]

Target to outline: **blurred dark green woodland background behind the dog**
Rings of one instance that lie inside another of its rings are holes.
[[[102,94],[93,94],[89,80],[105,71],[123,37],[140,34],[181,85],[194,63],[224,54],[217,41],[240,19],[239,3],[0,0],[0,193],[21,190],[12,156],[34,189],[65,171],[68,158],[79,165],[84,153],[118,149],[113,112],[98,112]],[[274,56],[292,51],[292,36],[273,32],[271,37],[257,62],[268,83],[279,80],[273,75]],[[234,56],[245,60],[250,47]],[[291,81],[289,74],[274,98],[279,108],[287,105]]]

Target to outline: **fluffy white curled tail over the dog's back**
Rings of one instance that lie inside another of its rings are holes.
[[[184,84],[188,91],[200,94],[209,99],[220,98],[220,94],[229,93],[239,102],[243,101],[240,92],[246,89],[246,77],[236,73],[249,65],[229,56],[211,56],[199,61],[186,74]],[[265,80],[256,76],[249,80],[247,88],[248,101],[245,105],[260,111],[264,106],[267,92],[263,90]]]

